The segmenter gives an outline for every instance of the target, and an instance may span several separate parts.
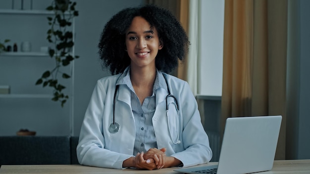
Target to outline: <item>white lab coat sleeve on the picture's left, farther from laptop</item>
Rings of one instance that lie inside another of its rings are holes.
[[[93,91],[81,127],[77,158],[82,165],[123,169],[123,161],[132,155],[121,154],[104,148],[103,113],[106,88],[98,81]]]

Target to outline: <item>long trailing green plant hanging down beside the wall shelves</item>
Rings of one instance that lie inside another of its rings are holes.
[[[72,55],[73,33],[69,30],[74,17],[78,16],[75,9],[76,2],[70,0],[53,0],[52,5],[46,9],[53,11],[54,15],[48,17],[51,28],[48,30],[47,40],[53,46],[49,50],[49,55],[55,60],[55,67],[52,70],[45,71],[41,78],[37,80],[36,85],[53,88],[53,101],[60,101],[61,107],[69,98],[63,93],[64,85],[59,83],[59,76],[63,79],[69,79],[71,76],[62,72],[61,68],[70,65],[71,61],[79,56]]]

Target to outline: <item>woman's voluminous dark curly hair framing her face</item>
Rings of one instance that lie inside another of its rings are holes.
[[[125,32],[136,16],[146,19],[151,28],[155,27],[159,40],[164,45],[155,57],[156,68],[162,72],[171,72],[178,66],[178,60],[184,60],[190,42],[183,27],[171,12],[155,5],[125,8],[105,24],[98,45],[103,67],[109,67],[114,75],[124,72],[130,65],[130,57],[125,51]]]

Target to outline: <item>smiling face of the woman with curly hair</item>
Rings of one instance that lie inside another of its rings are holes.
[[[147,20],[136,16],[126,31],[126,47],[131,59],[131,66],[144,68],[155,67],[155,57],[162,43],[158,33]]]

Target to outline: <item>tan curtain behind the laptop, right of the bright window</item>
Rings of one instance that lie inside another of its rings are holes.
[[[282,115],[285,159],[287,0],[225,0],[221,133],[227,117]]]

